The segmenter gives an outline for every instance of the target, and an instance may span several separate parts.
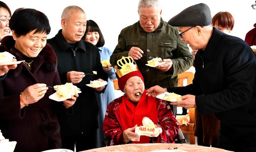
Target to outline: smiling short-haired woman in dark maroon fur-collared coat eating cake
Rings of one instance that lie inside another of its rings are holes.
[[[61,148],[55,108],[72,112],[70,106],[78,94],[63,102],[49,99],[55,91],[47,86],[60,85],[61,81],[57,57],[46,44],[51,30],[48,18],[35,9],[21,8],[13,13],[9,24],[13,36],[2,39],[0,51],[25,61],[0,82],[0,130],[5,138],[17,141],[14,152]]]

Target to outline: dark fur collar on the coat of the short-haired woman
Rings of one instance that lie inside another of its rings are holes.
[[[15,41],[12,36],[4,37],[4,39],[2,39],[1,42],[2,44],[0,45],[0,52],[7,51],[13,54],[16,57],[17,61],[22,60],[20,55],[10,51],[10,49],[15,44]],[[46,46],[42,49],[39,55],[35,58],[34,62],[36,61],[40,63],[43,62],[40,68],[43,68],[46,71],[55,71],[57,69],[57,56],[49,44],[46,44]],[[36,64],[34,64],[34,66],[36,66]],[[26,68],[25,65],[18,64],[16,69],[10,70],[8,72],[7,76],[16,77],[20,74],[23,68]],[[39,68],[39,67],[34,67],[34,68]]]

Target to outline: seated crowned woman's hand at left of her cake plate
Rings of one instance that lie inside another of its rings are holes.
[[[132,132],[135,130],[136,127],[138,127],[138,125],[135,125],[132,128],[128,128],[128,129],[124,130],[123,136],[124,136],[125,143],[128,143],[129,141],[140,141],[140,135]]]

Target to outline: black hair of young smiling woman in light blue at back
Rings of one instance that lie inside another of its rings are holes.
[[[98,43],[96,44],[96,47],[102,47],[105,44],[105,40],[103,37],[102,32],[100,31],[100,28],[98,27],[98,24],[93,20],[88,20],[86,23],[86,31],[84,33],[84,36],[82,37],[83,40],[85,40],[85,36],[88,32],[98,32],[100,35],[100,38],[98,40]]]

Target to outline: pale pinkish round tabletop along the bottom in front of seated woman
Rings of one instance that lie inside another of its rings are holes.
[[[230,152],[228,150],[213,148],[213,147],[203,147],[198,145],[175,144],[175,143],[125,144],[125,145],[95,148],[91,150],[85,150],[82,152],[150,152],[154,150],[167,150],[169,147],[172,147],[172,148],[178,147],[177,150],[185,150],[187,152]],[[170,150],[170,152],[172,151]]]

